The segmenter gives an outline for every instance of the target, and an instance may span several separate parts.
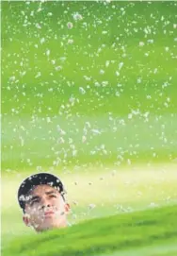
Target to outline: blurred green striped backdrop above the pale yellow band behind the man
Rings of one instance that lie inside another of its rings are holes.
[[[173,161],[176,10],[3,2],[2,170]]]

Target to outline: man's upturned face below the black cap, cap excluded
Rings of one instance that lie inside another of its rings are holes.
[[[39,185],[25,203],[24,223],[37,231],[67,226],[70,206],[59,192],[49,185]]]

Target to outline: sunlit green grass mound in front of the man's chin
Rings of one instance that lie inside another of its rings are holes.
[[[93,219],[63,230],[18,237],[4,256],[95,255],[175,240],[177,207]]]

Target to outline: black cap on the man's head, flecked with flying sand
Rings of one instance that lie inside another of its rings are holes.
[[[27,196],[27,194],[36,186],[44,184],[56,188],[62,196],[66,193],[63,183],[55,175],[50,173],[38,173],[31,175],[24,179],[18,190],[18,201],[23,210],[25,207],[25,196]]]

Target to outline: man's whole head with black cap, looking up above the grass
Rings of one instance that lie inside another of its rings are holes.
[[[51,174],[42,173],[25,179],[18,193],[25,225],[37,231],[66,227],[70,206],[63,194],[63,184]]]

